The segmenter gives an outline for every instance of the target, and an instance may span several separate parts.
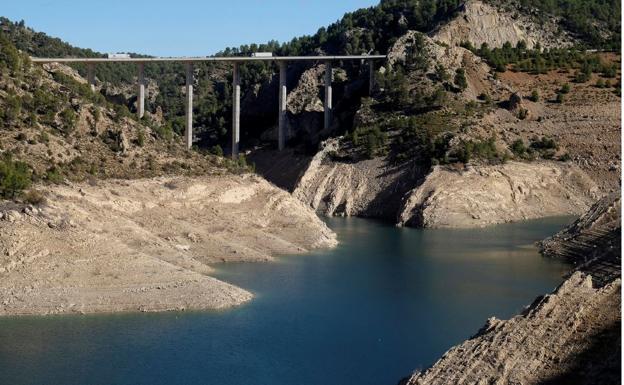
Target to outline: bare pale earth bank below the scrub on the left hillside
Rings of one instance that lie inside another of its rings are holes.
[[[41,209],[0,211],[0,315],[233,306],[251,294],[208,276],[208,264],[336,243],[312,210],[252,175],[47,193]]]

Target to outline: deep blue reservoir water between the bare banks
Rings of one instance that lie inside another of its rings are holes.
[[[568,267],[533,242],[571,218],[479,230],[330,219],[340,246],[219,267],[226,311],[0,318],[0,384],[396,384]]]

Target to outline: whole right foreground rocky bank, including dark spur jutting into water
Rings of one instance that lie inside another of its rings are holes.
[[[607,196],[542,242],[546,255],[580,263],[557,290],[510,320],[490,318],[475,336],[401,383],[620,383],[620,205],[619,194]]]

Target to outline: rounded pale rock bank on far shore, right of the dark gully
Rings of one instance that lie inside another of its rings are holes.
[[[580,215],[596,199],[592,180],[560,162],[509,162],[454,170],[436,166],[405,199],[398,223],[479,227],[556,215]]]

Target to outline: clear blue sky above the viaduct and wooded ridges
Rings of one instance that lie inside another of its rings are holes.
[[[379,0],[9,0],[0,13],[100,52],[204,56],[312,34]]]

